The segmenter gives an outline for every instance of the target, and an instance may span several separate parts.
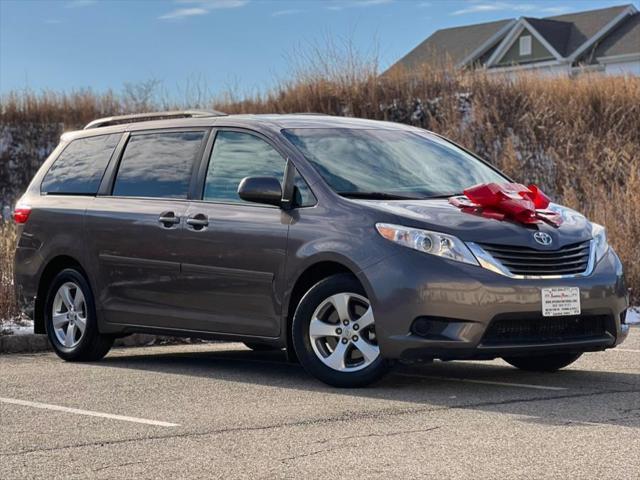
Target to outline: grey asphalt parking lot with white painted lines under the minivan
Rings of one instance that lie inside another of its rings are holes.
[[[640,478],[640,328],[556,374],[337,390],[241,344],[0,355],[0,478]]]

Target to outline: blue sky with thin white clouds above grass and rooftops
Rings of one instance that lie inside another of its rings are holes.
[[[25,87],[120,90],[157,79],[251,93],[289,73],[325,37],[377,44],[381,67],[435,30],[550,16],[624,0],[0,0],[0,93]],[[340,40],[338,40],[340,41]]]

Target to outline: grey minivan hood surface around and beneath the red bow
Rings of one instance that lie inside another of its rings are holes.
[[[359,203],[394,214],[399,225],[423,228],[455,235],[465,242],[518,245],[537,250],[555,250],[565,245],[589,240],[591,223],[580,213],[557,204],[549,209],[562,216],[562,225],[547,223],[524,225],[509,220],[496,220],[465,213],[448,200],[358,200]],[[533,234],[544,231],[553,239],[551,245],[537,243]]]

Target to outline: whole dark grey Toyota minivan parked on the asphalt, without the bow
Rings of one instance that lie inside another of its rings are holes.
[[[514,184],[406,125],[95,120],[62,136],[15,208],[16,285],[64,360],[134,332],[202,337],[286,349],[342,387],[394,360],[554,371],[622,342],[628,292],[604,228],[556,204],[553,221],[483,214],[463,195],[478,185]]]

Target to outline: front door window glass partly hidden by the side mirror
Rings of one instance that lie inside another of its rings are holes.
[[[218,132],[204,188],[204,200],[245,202],[238,196],[244,177],[276,177],[282,181],[285,161],[264,140],[241,132]],[[252,204],[255,205],[255,204]]]

